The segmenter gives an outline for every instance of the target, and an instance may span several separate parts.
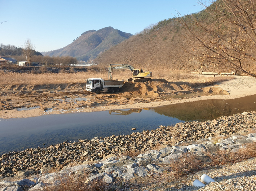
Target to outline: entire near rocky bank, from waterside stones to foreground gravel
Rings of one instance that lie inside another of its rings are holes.
[[[207,173],[216,182],[200,190],[251,189],[248,181],[256,182],[255,159],[250,159],[256,156],[255,127],[256,112],[243,112],[126,136],[9,152],[0,157],[0,187],[61,190],[67,181],[85,177],[86,184],[100,179],[117,190],[198,190],[193,181]],[[249,160],[240,162],[243,159]],[[30,180],[21,180],[33,174]]]

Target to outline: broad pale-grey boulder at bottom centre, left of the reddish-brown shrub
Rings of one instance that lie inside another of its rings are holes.
[[[147,175],[147,171],[145,167],[135,167],[131,169],[125,168],[117,171],[117,173],[118,173],[118,176],[122,177],[124,181],[131,180],[135,176],[143,177]]]

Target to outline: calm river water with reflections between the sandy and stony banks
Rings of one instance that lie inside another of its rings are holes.
[[[66,140],[77,141],[92,139],[95,136],[130,134],[133,132],[132,127],[141,132],[156,129],[160,125],[174,125],[181,121],[213,120],[247,110],[256,110],[256,95],[155,108],[0,119],[0,154],[62,143]]]

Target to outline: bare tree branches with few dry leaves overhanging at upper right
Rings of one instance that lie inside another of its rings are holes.
[[[253,0],[211,0],[205,8],[211,23],[204,23],[196,14],[178,21],[189,31],[182,48],[200,61],[201,67],[213,70],[235,70],[254,76],[256,71],[256,2]]]

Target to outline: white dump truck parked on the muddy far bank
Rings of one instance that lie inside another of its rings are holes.
[[[103,80],[102,78],[88,78],[86,80],[86,90],[97,94],[100,92],[120,92],[123,85],[123,80]]]

